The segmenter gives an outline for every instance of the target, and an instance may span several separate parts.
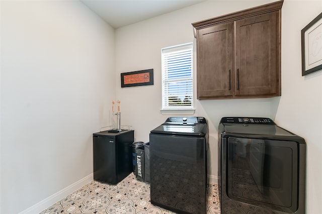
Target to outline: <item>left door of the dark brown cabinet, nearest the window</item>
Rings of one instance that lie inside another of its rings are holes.
[[[232,96],[232,23],[198,30],[197,98]]]

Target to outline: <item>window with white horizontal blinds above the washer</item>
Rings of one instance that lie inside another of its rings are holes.
[[[162,49],[163,110],[193,109],[192,43]]]

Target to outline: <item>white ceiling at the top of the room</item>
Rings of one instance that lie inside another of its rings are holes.
[[[205,0],[82,0],[113,28],[170,13]]]

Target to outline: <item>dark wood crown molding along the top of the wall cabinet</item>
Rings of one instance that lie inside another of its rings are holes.
[[[226,14],[226,15],[211,18],[211,19],[206,19],[203,21],[192,23],[192,26],[194,27],[194,31],[196,31],[197,29],[204,28],[204,27],[207,27],[207,26],[213,25],[213,24],[219,24],[219,23],[223,23],[223,22],[231,22],[231,21],[243,19],[246,17],[254,16],[254,15],[278,11],[278,10],[282,9],[283,2],[284,2],[284,0],[281,0],[278,2],[273,2],[273,3],[266,4],[266,5],[258,6],[255,8],[250,8],[250,9],[246,9],[243,11],[238,11],[238,12]]]

